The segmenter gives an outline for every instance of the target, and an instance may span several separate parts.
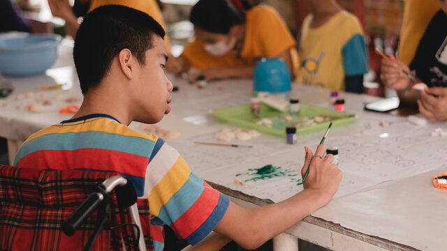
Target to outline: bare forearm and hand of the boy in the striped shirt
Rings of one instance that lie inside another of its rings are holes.
[[[306,148],[301,173],[307,168],[310,172],[305,190],[277,204],[258,208],[244,209],[230,202],[214,231],[230,237],[243,248],[254,249],[327,204],[339,187],[342,172],[331,164],[332,155],[319,158],[324,153],[323,144],[318,146],[315,156]]]

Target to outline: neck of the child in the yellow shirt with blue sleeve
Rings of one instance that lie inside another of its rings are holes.
[[[330,17],[339,13],[342,8],[333,0],[310,1],[310,10],[313,15],[311,28],[318,28],[330,20]]]

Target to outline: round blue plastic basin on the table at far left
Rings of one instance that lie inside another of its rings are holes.
[[[57,59],[61,36],[22,35],[0,38],[0,73],[22,77],[45,73]]]

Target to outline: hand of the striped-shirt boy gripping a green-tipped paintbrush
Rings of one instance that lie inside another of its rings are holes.
[[[325,145],[319,144],[315,155],[307,146],[305,146],[305,151],[305,164],[301,169],[301,175],[304,176],[307,169],[310,168],[303,184],[305,190],[314,190],[323,204],[327,204],[339,188],[340,181],[342,181],[342,171],[337,165],[332,164],[332,160],[334,160],[332,154],[323,158],[326,152]]]

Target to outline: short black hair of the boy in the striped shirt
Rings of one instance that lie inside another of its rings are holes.
[[[154,34],[163,38],[165,31],[146,13],[126,6],[101,6],[86,15],[73,48],[82,93],[101,82],[123,49],[144,65],[145,52],[154,47]]]

